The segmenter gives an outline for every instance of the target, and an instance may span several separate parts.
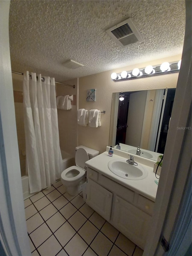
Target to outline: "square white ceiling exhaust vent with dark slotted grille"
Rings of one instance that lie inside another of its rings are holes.
[[[122,48],[125,48],[130,44],[143,42],[143,38],[133,24],[131,18],[107,29],[106,32]]]

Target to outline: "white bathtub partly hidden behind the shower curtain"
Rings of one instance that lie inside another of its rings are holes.
[[[68,154],[67,152],[61,150],[61,155],[63,159],[63,170],[66,168],[72,166],[75,164],[75,159]],[[21,182],[22,182],[22,190],[23,190],[23,199],[27,199],[28,197],[31,197],[35,193],[30,194],[30,189],[29,189],[29,177],[27,175],[24,175],[21,177]]]

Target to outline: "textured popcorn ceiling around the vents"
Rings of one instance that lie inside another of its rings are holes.
[[[131,17],[143,42],[122,49],[105,32]],[[184,1],[11,1],[12,70],[62,82],[182,53]],[[73,59],[84,67],[68,69]]]

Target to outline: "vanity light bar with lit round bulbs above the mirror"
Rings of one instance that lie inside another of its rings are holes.
[[[177,62],[164,62],[158,66],[148,65],[146,68],[134,68],[132,71],[122,71],[120,74],[112,73],[111,78],[114,82],[132,80],[137,78],[152,77],[164,74],[178,73],[181,60]]]

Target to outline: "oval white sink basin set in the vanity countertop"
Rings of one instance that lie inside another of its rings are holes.
[[[126,159],[111,160],[108,163],[108,167],[110,171],[124,179],[145,179],[148,174],[141,164],[138,163],[138,166],[135,166],[127,163]]]

